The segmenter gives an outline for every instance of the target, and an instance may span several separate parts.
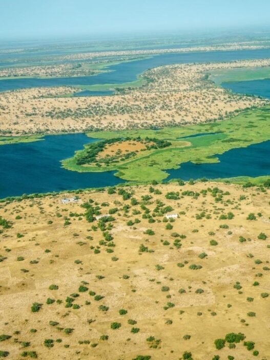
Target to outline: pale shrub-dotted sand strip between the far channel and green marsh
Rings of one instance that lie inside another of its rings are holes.
[[[35,88],[0,94],[0,135],[85,132],[212,122],[268,100],[218,88],[205,78],[215,69],[261,67],[270,60],[249,60],[154,68],[149,84],[123,95],[56,98],[72,88]]]

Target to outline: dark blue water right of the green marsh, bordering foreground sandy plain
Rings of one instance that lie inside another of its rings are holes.
[[[185,162],[177,170],[168,170],[166,179],[217,179],[237,176],[270,175],[270,140],[259,144],[232,149],[222,155],[216,155],[220,162],[215,164],[193,164]]]

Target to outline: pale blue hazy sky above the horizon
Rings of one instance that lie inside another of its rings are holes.
[[[0,37],[270,27],[269,0],[0,0]]]

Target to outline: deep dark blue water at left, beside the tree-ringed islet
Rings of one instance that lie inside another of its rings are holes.
[[[113,172],[77,173],[61,167],[60,160],[94,142],[85,134],[45,136],[45,140],[0,146],[0,198],[87,187],[116,185],[123,180]]]

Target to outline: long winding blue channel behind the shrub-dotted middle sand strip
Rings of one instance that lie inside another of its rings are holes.
[[[123,62],[111,66],[109,69],[112,70],[112,72],[101,73],[95,76],[0,80],[0,91],[33,87],[76,86],[107,83],[119,84],[136,80],[139,74],[150,68],[171,65],[174,63],[232,61],[268,57],[270,57],[270,49],[160,54],[148,59]]]

